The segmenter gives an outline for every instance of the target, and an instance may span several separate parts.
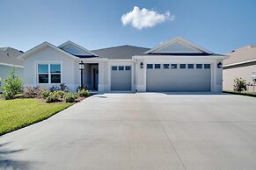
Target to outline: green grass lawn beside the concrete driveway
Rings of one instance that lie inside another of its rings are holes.
[[[55,115],[71,103],[41,103],[36,99],[0,100],[0,135]]]

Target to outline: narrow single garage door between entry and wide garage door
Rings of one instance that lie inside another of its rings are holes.
[[[131,90],[131,67],[113,66],[111,68],[111,90]]]

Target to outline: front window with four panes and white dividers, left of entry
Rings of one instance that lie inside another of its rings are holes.
[[[38,83],[61,83],[61,64],[38,64]]]

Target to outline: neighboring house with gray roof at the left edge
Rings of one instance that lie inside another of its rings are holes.
[[[0,47],[0,86],[3,86],[3,80],[6,79],[14,69],[21,79],[23,78],[23,60],[19,60],[18,55],[21,51],[11,47]],[[0,89],[1,92],[1,89]]]

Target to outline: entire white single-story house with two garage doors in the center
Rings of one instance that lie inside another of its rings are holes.
[[[94,51],[71,41],[61,46],[44,42],[18,58],[24,60],[26,86],[65,83],[76,90],[82,77],[88,89],[99,92],[222,92],[222,62],[228,57],[176,38],[152,49],[116,46]]]

